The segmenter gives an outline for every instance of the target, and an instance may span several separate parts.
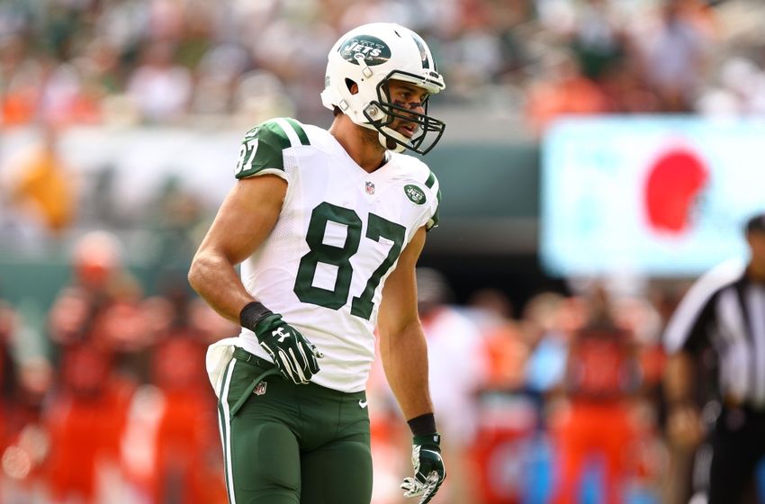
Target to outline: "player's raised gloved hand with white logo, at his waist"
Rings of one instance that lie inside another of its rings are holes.
[[[258,320],[255,334],[279,371],[294,383],[309,383],[311,376],[319,373],[317,358],[324,354],[278,313]]]

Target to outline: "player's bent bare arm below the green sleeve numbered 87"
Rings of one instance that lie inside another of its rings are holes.
[[[287,183],[276,175],[245,178],[234,184],[189,269],[189,284],[228,320],[254,302],[234,269],[263,243],[282,210]]]

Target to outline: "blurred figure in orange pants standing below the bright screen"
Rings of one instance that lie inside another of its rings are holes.
[[[634,337],[617,326],[610,303],[605,290],[590,294],[586,320],[572,334],[564,385],[568,401],[554,422],[554,502],[581,502],[583,476],[598,462],[599,495],[608,504],[626,500],[626,482],[634,476],[630,399],[637,392],[639,368]]]

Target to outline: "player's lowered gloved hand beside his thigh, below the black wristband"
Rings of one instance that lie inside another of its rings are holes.
[[[436,495],[438,487],[446,478],[440,443],[441,437],[437,434],[414,437],[411,448],[414,477],[404,478],[401,483],[404,497],[422,496],[419,504],[426,504]]]

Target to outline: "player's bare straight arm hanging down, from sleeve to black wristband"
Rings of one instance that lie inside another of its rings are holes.
[[[407,420],[433,412],[428,347],[419,323],[415,280],[415,266],[424,245],[425,228],[421,228],[385,281],[377,322],[385,375]]]

